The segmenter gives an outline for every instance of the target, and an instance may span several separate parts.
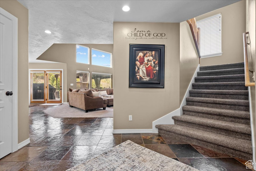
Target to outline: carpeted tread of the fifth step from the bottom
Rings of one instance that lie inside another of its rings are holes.
[[[189,90],[189,93],[249,95],[248,90]]]

